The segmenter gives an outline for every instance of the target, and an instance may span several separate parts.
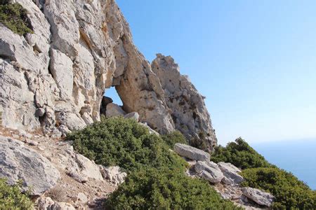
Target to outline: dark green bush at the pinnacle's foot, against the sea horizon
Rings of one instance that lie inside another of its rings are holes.
[[[230,142],[226,147],[218,146],[211,154],[213,162],[230,162],[241,169],[272,167],[270,163],[251,148],[242,138]]]

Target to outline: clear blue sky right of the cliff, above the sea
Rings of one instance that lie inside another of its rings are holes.
[[[220,144],[316,139],[316,1],[117,3],[140,52],[206,96]]]

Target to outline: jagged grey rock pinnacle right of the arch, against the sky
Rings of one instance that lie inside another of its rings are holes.
[[[213,150],[217,139],[204,97],[187,76],[180,74],[180,68],[171,56],[157,54],[152,71],[159,78],[175,128],[187,139],[202,139],[209,151]]]

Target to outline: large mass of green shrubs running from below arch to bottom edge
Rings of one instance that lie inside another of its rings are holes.
[[[237,209],[209,183],[185,176],[186,162],[170,151],[182,134],[150,134],[135,120],[102,118],[67,137],[79,153],[129,176],[107,199],[109,209]]]

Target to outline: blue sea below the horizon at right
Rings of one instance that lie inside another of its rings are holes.
[[[291,172],[316,190],[316,139],[250,144],[268,162]]]

